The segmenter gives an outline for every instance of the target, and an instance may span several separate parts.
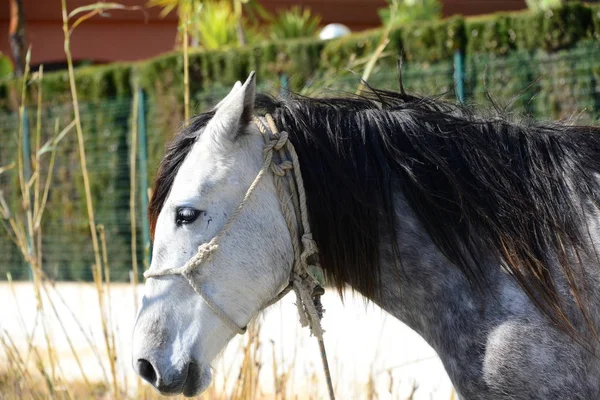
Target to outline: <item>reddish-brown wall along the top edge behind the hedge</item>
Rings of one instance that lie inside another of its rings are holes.
[[[68,0],[70,10],[96,0]],[[144,5],[146,0],[121,0],[121,4]],[[8,1],[0,5],[0,51],[10,54],[8,44]],[[23,0],[28,42],[32,44],[32,64],[62,62],[63,32],[59,0]],[[385,0],[260,0],[274,11],[292,5],[310,7],[323,17],[323,23],[340,22],[353,30],[379,25],[377,9]],[[484,14],[525,8],[524,0],[444,0],[444,15]],[[169,51],[175,43],[177,21],[174,14],[165,19],[158,9],[114,11],[110,17],[94,17],[77,27],[71,40],[75,60],[95,63],[132,61]]]

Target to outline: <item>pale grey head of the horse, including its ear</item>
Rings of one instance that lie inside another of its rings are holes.
[[[252,74],[233,87],[208,122],[190,125],[195,132],[187,132],[193,142],[188,154],[174,154],[172,146],[159,169],[157,186],[170,187],[155,187],[155,196],[162,191],[164,198],[158,201],[152,278],[134,329],[133,365],[163,394],[191,396],[206,389],[210,363],[236,327],[245,327],[288,283],[293,251],[271,173],[219,233],[263,164],[264,141],[251,122],[254,100]],[[167,273],[218,234],[218,249],[188,274],[191,282]]]

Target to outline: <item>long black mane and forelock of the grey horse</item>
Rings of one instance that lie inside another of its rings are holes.
[[[583,209],[600,204],[598,128],[482,117],[376,89],[347,98],[259,96],[257,107],[298,152],[321,263],[338,289],[349,283],[376,295],[379,243],[396,229],[400,190],[470,281],[482,277],[482,252],[495,255],[546,315],[569,325],[551,263],[558,260],[578,302],[571,251],[589,250]],[[195,117],[168,148],[151,219],[210,116]]]

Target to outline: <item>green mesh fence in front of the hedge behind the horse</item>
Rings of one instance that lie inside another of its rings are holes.
[[[576,47],[553,54],[513,52],[505,56],[474,54],[463,59],[464,71],[456,71],[455,59],[432,64],[405,63],[404,85],[409,92],[424,95],[445,94],[454,97],[456,76],[464,76],[465,101],[491,106],[488,93],[509,112],[527,113],[537,119],[576,118],[580,123],[594,124],[600,118],[600,48],[597,42],[581,42]],[[457,74],[458,72],[458,74]],[[396,90],[397,72],[393,63],[382,62],[369,82],[375,87]],[[280,82],[267,82],[263,91],[275,92]],[[309,81],[308,93],[323,95],[353,92],[357,78],[340,74],[324,82]],[[228,87],[213,87],[210,93],[192,96],[193,111],[205,110],[217,103]],[[133,99],[105,99],[98,104],[81,104],[81,120],[85,134],[87,164],[90,173],[96,223],[106,232],[111,278],[128,280],[131,270],[130,183],[136,179],[137,257],[140,270],[144,265],[144,218],[140,208],[143,188],[139,172],[130,176],[131,127]],[[147,166],[148,181],[163,155],[165,142],[183,121],[181,99],[149,97],[143,102],[146,125],[147,159],[137,164]],[[45,106],[42,110],[41,143],[67,126],[73,119],[70,104]],[[28,110],[28,126],[32,153],[35,143],[35,110]],[[16,161],[19,141],[19,119],[16,114],[0,115],[0,167]],[[48,173],[46,153],[41,158],[43,186]],[[138,169],[139,171],[139,169]],[[43,268],[62,280],[90,280],[93,252],[90,240],[83,181],[75,131],[69,132],[58,145],[52,171],[52,185],[42,219]],[[16,170],[0,174],[0,190],[8,207],[19,209],[21,196]],[[150,184],[151,186],[151,184]],[[29,267],[20,250],[0,228],[0,279],[10,272],[14,279],[29,279]]]

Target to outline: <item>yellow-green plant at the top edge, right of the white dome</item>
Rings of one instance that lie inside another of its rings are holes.
[[[388,0],[388,7],[378,12],[383,25],[404,25],[440,19],[442,4],[439,0]]]

